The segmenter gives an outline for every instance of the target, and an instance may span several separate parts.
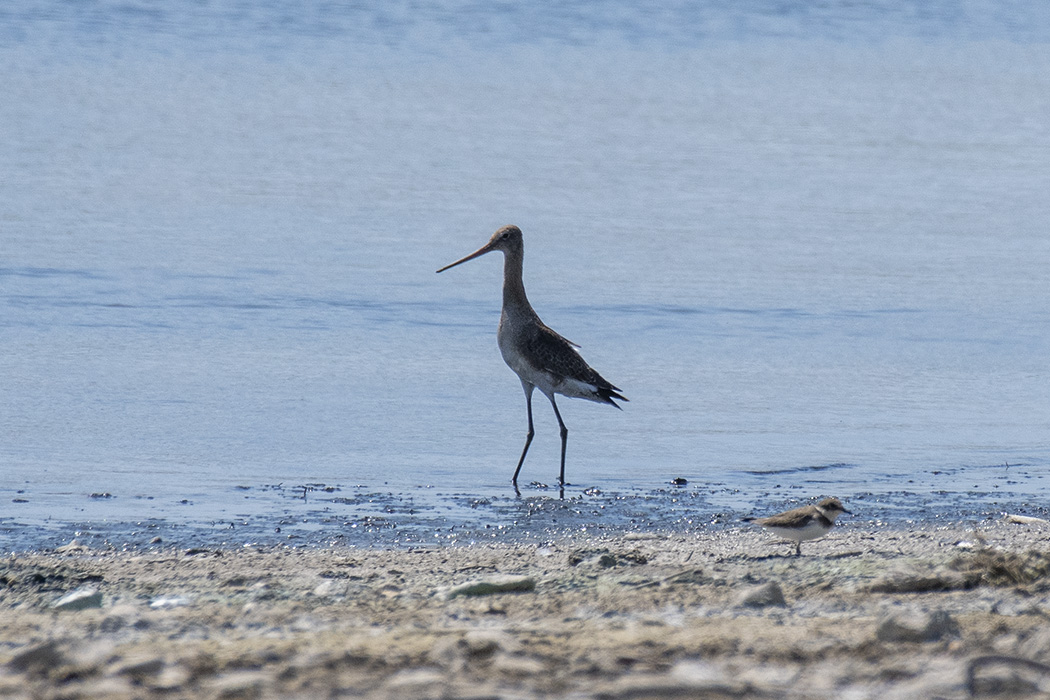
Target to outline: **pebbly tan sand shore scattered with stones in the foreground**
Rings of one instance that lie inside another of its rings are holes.
[[[1048,535],[853,524],[801,557],[748,526],[395,551],[71,545],[0,567],[0,697],[1037,697]]]

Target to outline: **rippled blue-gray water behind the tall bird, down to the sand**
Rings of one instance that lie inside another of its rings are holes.
[[[1050,505],[1050,6],[14,0],[0,94],[2,549]]]

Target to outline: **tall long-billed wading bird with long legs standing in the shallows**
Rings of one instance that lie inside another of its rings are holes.
[[[465,258],[446,264],[438,272],[455,268],[461,262],[491,253],[503,252],[503,313],[500,315],[500,328],[497,340],[500,353],[507,365],[521,379],[525,389],[525,405],[528,408],[528,433],[525,436],[525,447],[518,460],[511,483],[518,486],[518,474],[525,462],[528,446],[532,443],[532,389],[540,389],[554,409],[558,425],[562,429],[562,470],[559,482],[565,485],[565,445],[569,429],[558,410],[554,395],[587,399],[598,403],[607,403],[616,408],[616,402],[627,401],[618,394],[620,388],[602,378],[588,365],[576,352],[578,345],[566,340],[547,327],[532,304],[525,296],[525,284],[522,282],[522,260],[525,247],[522,242],[522,232],[517,226],[505,226],[489,238],[488,242],[470,253]]]

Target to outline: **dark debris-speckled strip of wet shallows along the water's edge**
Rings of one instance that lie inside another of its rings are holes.
[[[1041,495],[1045,480],[1034,469],[1011,479],[1000,474],[996,479],[1005,481],[991,480],[985,490],[976,488],[983,482],[973,474],[937,472],[933,479],[920,485],[908,480],[907,491],[837,489],[836,493],[824,492],[827,484],[803,488],[795,480],[763,483],[755,489],[728,483],[658,488],[574,485],[564,497],[559,497],[558,489],[536,484],[518,494],[509,488],[466,493],[418,486],[402,492],[322,483],[240,485],[164,499],[100,492],[65,494],[66,501],[55,501],[46,494],[19,492],[13,495],[15,505],[0,517],[0,552],[52,550],[71,540],[96,550],[143,553],[158,550],[158,543],[180,549],[524,545],[581,533],[623,535],[640,527],[688,536],[733,529],[746,517],[815,503],[824,495],[837,495],[856,513],[841,522],[845,528],[865,522],[862,527],[984,523],[1006,512],[1050,518]],[[971,488],[956,490],[962,485]]]

